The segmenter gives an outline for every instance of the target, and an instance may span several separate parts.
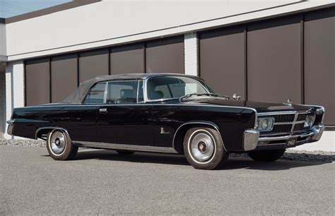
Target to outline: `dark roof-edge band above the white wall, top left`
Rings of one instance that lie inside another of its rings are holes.
[[[23,14],[18,15],[18,16],[12,16],[10,18],[6,18],[6,24],[15,23],[15,22],[18,22],[18,21],[21,21],[21,20],[28,20],[30,18],[35,18],[35,17],[38,17],[38,16],[45,16],[45,15],[50,14],[50,13],[55,13],[55,12],[58,12],[58,11],[64,11],[64,10],[67,10],[67,9],[76,8],[78,6],[84,6],[86,4],[93,4],[93,3],[98,2],[98,1],[101,1],[101,0],[71,1],[71,2],[68,2],[68,3],[59,4],[59,5],[56,5],[56,6],[49,7],[49,8],[44,8],[42,10],[33,11],[33,12],[30,12],[30,13],[23,13]]]

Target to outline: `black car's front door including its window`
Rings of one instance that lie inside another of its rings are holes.
[[[107,83],[98,107],[98,139],[103,143],[153,145],[153,104],[143,102],[143,80]]]

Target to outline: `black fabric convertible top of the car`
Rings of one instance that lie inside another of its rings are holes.
[[[92,88],[95,83],[110,81],[110,80],[146,80],[151,77],[156,76],[184,76],[184,77],[191,77],[191,78],[198,78],[197,76],[191,75],[184,75],[180,73],[124,73],[124,74],[116,74],[110,76],[98,76],[96,78],[86,80],[79,87],[72,92],[69,97],[63,101],[63,103],[67,104],[81,104],[81,102],[86,97],[86,94],[90,88]]]

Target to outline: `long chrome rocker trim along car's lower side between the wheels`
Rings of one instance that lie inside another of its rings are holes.
[[[177,151],[174,148],[165,148],[158,146],[149,145],[127,145],[127,144],[115,144],[115,143],[95,143],[95,142],[84,142],[84,141],[73,141],[75,145],[89,147],[89,148],[106,148],[111,150],[131,150],[139,152],[160,152],[160,153],[174,153]]]

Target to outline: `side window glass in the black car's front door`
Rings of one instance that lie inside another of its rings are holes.
[[[107,104],[136,104],[138,81],[111,81],[107,87]]]

